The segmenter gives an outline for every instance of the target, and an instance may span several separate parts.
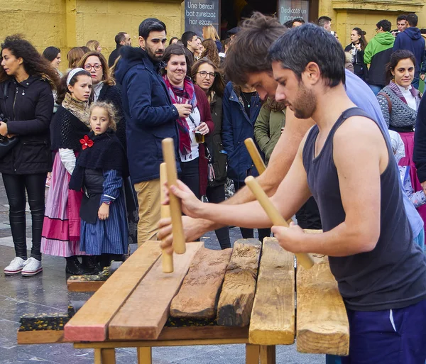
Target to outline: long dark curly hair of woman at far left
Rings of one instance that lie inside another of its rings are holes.
[[[34,48],[34,46],[23,39],[22,35],[14,34],[6,37],[3,43],[1,43],[1,53],[3,50],[8,49],[12,55],[16,58],[22,58],[23,68],[28,75],[38,75],[42,79],[49,82],[52,89],[56,89],[59,84],[58,72],[55,68],[50,65],[50,62],[42,57],[40,53]],[[4,68],[0,67],[0,82],[4,82],[7,79],[11,79],[13,76],[9,76],[4,72]]]

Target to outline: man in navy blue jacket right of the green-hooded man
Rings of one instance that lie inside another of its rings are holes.
[[[420,65],[425,57],[425,40],[420,34],[420,29],[417,28],[418,18],[415,14],[408,14],[407,16],[408,28],[400,33],[396,38],[393,45],[393,52],[395,50],[405,49],[410,50],[415,55],[415,73],[413,79],[413,87],[419,88],[419,75]]]

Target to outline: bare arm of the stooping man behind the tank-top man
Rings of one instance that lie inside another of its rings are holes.
[[[268,196],[272,196],[275,193],[278,185],[284,179],[285,175],[287,175],[295,159],[297,148],[303,136],[305,136],[305,133],[312,125],[314,125],[312,119],[298,119],[294,116],[293,111],[287,109],[283,134],[281,134],[278,143],[275,145],[265,172],[256,178],[256,181],[261,185]],[[234,194],[233,197],[222,202],[222,204],[244,204],[253,201],[253,199],[254,196],[249,187],[245,186]],[[192,219],[189,216],[182,216],[182,221],[186,241],[195,241],[207,231],[212,231],[224,226],[223,224],[217,224],[206,219]],[[167,237],[165,242],[170,244],[173,240],[170,235],[172,231],[170,219],[160,221],[160,226],[162,228],[158,233],[158,238]]]

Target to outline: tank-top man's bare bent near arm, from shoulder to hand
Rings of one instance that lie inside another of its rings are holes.
[[[285,250],[347,256],[375,248],[381,222],[380,177],[392,162],[378,126],[362,117],[345,121],[333,139],[333,160],[344,222],[320,234],[305,234],[298,226],[274,227],[273,233]]]

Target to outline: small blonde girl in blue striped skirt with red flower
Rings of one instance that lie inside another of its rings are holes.
[[[80,140],[82,152],[72,173],[70,189],[84,195],[80,209],[80,250],[97,255],[101,268],[127,253],[128,226],[123,190],[126,155],[116,137],[116,111],[97,102],[90,108],[92,131]]]

